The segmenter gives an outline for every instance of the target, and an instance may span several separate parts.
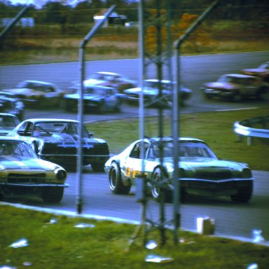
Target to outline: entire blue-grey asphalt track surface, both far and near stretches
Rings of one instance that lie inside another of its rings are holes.
[[[223,102],[220,100],[205,100],[199,90],[204,82],[215,81],[221,74],[237,73],[241,69],[258,67],[269,59],[269,52],[237,53],[228,55],[200,55],[181,57],[181,77],[184,84],[193,90],[193,97],[181,108],[181,113],[200,111],[219,111],[230,109],[255,109],[268,107],[268,100],[249,100],[242,103]],[[105,65],[104,65],[105,64]],[[104,68],[105,66],[105,68]],[[139,60],[95,61],[87,62],[87,74],[93,71],[115,71],[137,80]],[[68,87],[70,81],[78,79],[78,62],[58,64],[38,64],[27,66],[0,67],[0,87],[11,88],[18,82],[27,79],[36,79],[56,83],[60,88]],[[153,78],[154,70],[150,71],[149,78]],[[156,114],[156,109],[146,109],[146,115]],[[170,113],[169,110],[165,113]],[[121,113],[106,115],[87,114],[84,121],[109,120],[113,118],[137,117],[136,106],[123,106]],[[27,109],[26,118],[77,118],[75,113],[65,113],[61,109],[36,111]],[[268,169],[269,171],[269,169]],[[215,219],[215,233],[233,237],[251,239],[252,230],[260,229],[265,240],[269,240],[269,172],[254,171],[254,197],[247,204],[235,204],[228,198],[195,198],[191,197],[186,204],[181,205],[181,228],[196,229],[198,217],[209,216]],[[59,205],[44,204],[34,198],[11,198],[6,202],[25,206],[34,206],[43,210],[55,210],[64,214],[76,215],[76,173],[69,173],[64,198]],[[150,200],[147,212],[149,219],[158,223],[159,205]],[[165,215],[167,225],[172,219],[172,205],[166,205]],[[107,176],[104,173],[94,173],[89,168],[83,172],[83,215],[91,217],[106,217],[114,220],[128,220],[139,223],[141,205],[136,202],[135,187],[130,195],[113,195],[109,190]]]

